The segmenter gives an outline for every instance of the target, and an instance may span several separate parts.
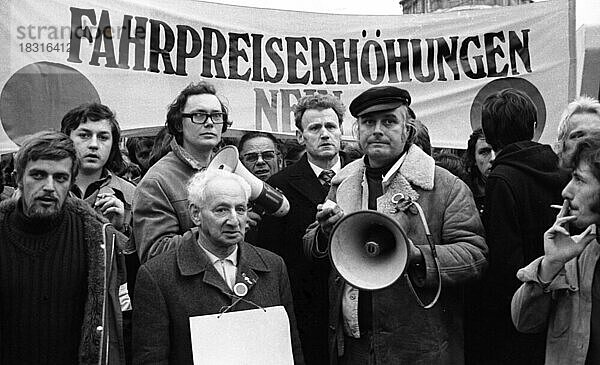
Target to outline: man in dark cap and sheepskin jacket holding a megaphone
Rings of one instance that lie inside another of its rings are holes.
[[[388,287],[362,290],[332,273],[331,364],[464,363],[462,285],[481,277],[487,246],[469,188],[412,143],[410,102],[406,90],[393,86],[352,101],[365,157],[333,178],[328,199],[336,204],[318,207],[304,237],[312,255],[324,257],[335,223],[370,209],[397,221],[409,238],[407,276]],[[424,309],[438,284],[439,299]]]

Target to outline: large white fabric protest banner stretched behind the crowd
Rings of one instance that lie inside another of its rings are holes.
[[[234,129],[293,134],[291,106],[304,95],[349,105],[369,87],[395,85],[412,95],[433,145],[465,148],[482,100],[516,87],[538,106],[536,138],[551,143],[575,95],[572,7],[361,16],[195,0],[8,0],[0,122],[18,142],[96,100],[131,135],[164,125],[178,92],[206,80],[228,101]],[[353,123],[347,112],[346,136]]]

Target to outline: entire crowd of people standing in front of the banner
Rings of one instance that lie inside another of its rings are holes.
[[[305,96],[286,141],[227,137],[207,82],[175,97],[156,136],[124,140],[106,105],[70,110],[2,158],[0,363],[201,363],[191,317],[274,306],[295,364],[600,362],[600,103],[565,106],[549,146],[531,98],[502,90],[458,153],[432,148],[411,103],[372,87],[344,120],[338,98]],[[287,214],[208,168],[227,144]],[[338,223],[361,211],[406,236],[404,274],[382,289],[330,260]]]

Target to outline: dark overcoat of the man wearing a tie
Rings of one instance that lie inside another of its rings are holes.
[[[317,204],[325,201],[329,187],[321,185],[306,154],[273,175],[268,183],[285,194],[290,211],[284,217],[263,217],[256,245],[275,252],[285,261],[304,356],[308,364],[326,364],[330,265],[328,261],[318,262],[304,255],[302,236],[315,220]]]

